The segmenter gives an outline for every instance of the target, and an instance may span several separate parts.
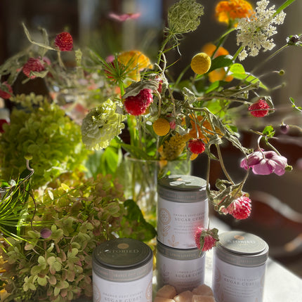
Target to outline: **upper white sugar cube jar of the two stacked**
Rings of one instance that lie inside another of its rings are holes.
[[[170,175],[158,182],[157,239],[176,249],[194,249],[195,232],[208,223],[206,180]]]

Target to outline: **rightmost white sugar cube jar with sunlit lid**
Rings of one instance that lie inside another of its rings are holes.
[[[224,232],[214,248],[213,291],[217,302],[261,302],[268,244],[242,231]]]

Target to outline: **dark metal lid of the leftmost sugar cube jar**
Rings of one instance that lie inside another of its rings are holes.
[[[93,251],[93,271],[106,280],[129,282],[152,270],[152,249],[131,238],[102,242]]]

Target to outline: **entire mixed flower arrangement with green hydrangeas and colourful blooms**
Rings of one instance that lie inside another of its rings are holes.
[[[282,176],[291,166],[271,143],[275,129],[270,124],[263,131],[251,131],[258,136],[255,149],[240,141],[238,115],[263,119],[275,112],[270,88],[256,70],[247,72],[242,61],[274,48],[276,25],[282,24],[284,10],[294,1],[286,0],[277,9],[268,0],[258,1],[256,8],[246,0],[219,1],[216,19],[226,25],[225,33],[201,50],[198,46],[176,79],[169,68],[177,62],[167,58],[171,51],[180,53],[185,34],[199,26],[204,6],[195,0],[180,0],[169,8],[154,63],[136,50],[107,58],[91,49],[74,50],[68,32],[51,40],[42,29],[42,41],[34,41],[23,25],[29,48],[0,67],[5,78],[0,96],[15,106],[11,120],[0,124],[0,162],[3,178],[18,178],[26,168],[25,159],[27,169],[35,173],[31,187],[22,191],[26,202],[13,207],[13,214],[22,211],[18,222],[22,232],[4,233],[3,257],[8,262],[1,280],[11,293],[6,301],[46,298],[42,292],[49,301],[91,296],[91,251],[97,242],[117,235],[155,237],[155,229],[136,204],[124,201],[115,179],[122,171],[121,149],[161,167],[206,155],[206,189],[214,209],[235,219],[249,217],[252,202],[244,192],[249,173]],[[112,18],[128,22],[139,14]],[[238,49],[230,55],[223,46],[234,33]],[[290,36],[265,62],[287,47],[301,45],[301,35]],[[15,81],[26,84],[37,78],[44,79],[51,98],[14,94]],[[287,131],[286,124],[281,126]],[[124,140],[124,129],[129,141]],[[223,162],[225,141],[242,152],[239,169],[246,174],[236,183]],[[216,180],[216,188],[209,185],[213,161],[225,174],[225,179]],[[2,200],[11,200],[10,196]],[[207,251],[218,241],[218,230],[199,228],[195,239],[197,247]]]

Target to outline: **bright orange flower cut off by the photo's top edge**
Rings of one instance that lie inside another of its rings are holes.
[[[249,18],[255,13],[251,4],[245,0],[220,1],[215,8],[215,12],[218,22],[227,24],[236,19]]]

